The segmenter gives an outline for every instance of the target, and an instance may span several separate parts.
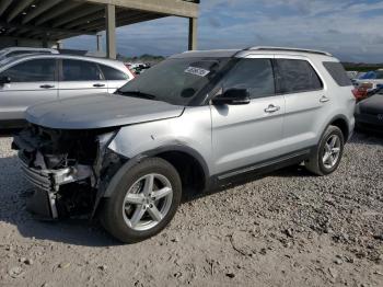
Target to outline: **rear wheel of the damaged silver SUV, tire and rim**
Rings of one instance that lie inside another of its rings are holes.
[[[334,139],[336,139],[336,142],[334,147],[330,148],[332,146],[329,144],[333,144]],[[336,126],[328,126],[315,151],[311,158],[304,162],[304,167],[310,172],[320,176],[330,174],[336,171],[340,163],[344,147],[345,138],[341,130]],[[338,153],[336,153],[336,151],[338,151]]]

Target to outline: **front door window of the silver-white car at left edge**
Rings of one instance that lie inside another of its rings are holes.
[[[0,76],[10,77],[11,82],[45,82],[55,81],[55,59],[35,59],[18,64]]]

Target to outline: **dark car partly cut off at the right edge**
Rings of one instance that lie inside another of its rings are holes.
[[[359,130],[383,134],[383,88],[357,104],[355,117]]]

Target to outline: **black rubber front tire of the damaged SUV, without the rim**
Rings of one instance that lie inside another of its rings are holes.
[[[123,203],[131,185],[149,173],[161,174],[170,181],[173,190],[173,198],[170,210],[160,223],[149,230],[138,231],[126,225],[123,216]],[[160,158],[144,159],[121,176],[112,196],[105,202],[105,208],[101,214],[101,221],[104,228],[118,240],[126,243],[139,242],[158,234],[170,223],[178,208],[181,198],[182,184],[175,168]]]

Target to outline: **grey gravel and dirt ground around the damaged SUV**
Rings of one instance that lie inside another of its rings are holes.
[[[0,139],[0,286],[383,286],[382,138],[356,135],[326,177],[294,167],[185,203],[132,245],[86,220],[34,220],[10,144]]]

